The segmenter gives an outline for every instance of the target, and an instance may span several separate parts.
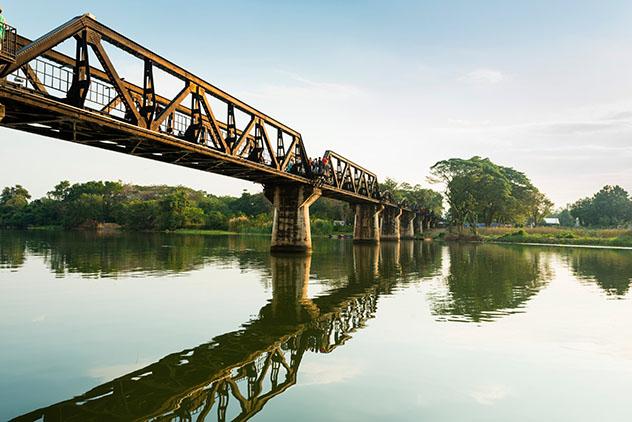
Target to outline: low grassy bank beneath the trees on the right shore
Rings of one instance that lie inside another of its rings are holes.
[[[625,229],[584,228],[484,228],[479,239],[484,242],[539,243],[544,245],[630,246],[632,231]]]

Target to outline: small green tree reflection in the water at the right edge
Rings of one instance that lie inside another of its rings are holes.
[[[632,282],[632,252],[569,248],[563,252],[575,277],[597,283],[608,295],[624,296]]]

